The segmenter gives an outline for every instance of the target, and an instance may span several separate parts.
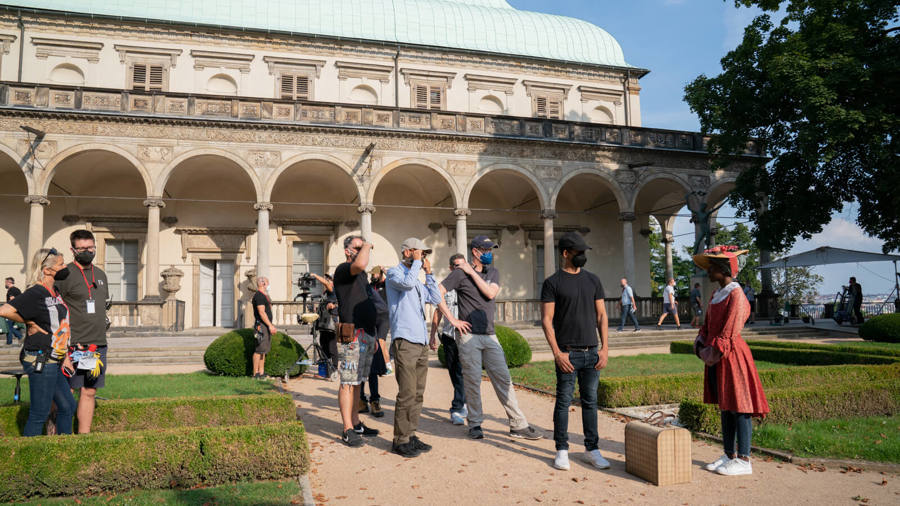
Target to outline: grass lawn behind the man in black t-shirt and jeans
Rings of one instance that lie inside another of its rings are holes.
[[[779,369],[795,367],[772,362],[756,362],[757,369]],[[525,384],[541,390],[556,389],[556,368],[553,361],[532,362],[522,367],[510,369],[513,382]],[[649,376],[652,374],[678,374],[703,372],[703,362],[694,355],[685,354],[644,354],[629,357],[612,357],[605,369],[600,371],[600,379],[621,376]]]

